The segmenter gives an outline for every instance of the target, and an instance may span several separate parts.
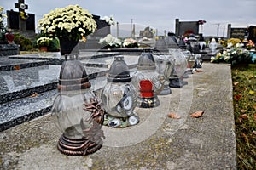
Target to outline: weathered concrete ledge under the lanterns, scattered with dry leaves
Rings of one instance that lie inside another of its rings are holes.
[[[0,169],[236,169],[230,65],[202,66],[188,85],[159,96],[160,106],[136,108],[136,126],[103,127],[102,149],[89,156],[57,150],[50,113],[1,132]],[[205,113],[192,118],[195,111]]]

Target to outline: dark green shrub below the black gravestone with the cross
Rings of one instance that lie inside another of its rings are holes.
[[[19,33],[15,33],[15,44],[20,45],[20,51],[28,51],[33,48],[33,43],[30,39],[21,36]]]

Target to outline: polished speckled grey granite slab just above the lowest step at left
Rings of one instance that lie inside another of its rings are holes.
[[[90,79],[104,76],[107,68],[85,68]],[[34,93],[55,89],[61,65],[42,65],[20,70],[0,71],[0,104]]]

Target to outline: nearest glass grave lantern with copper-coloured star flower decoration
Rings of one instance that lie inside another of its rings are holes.
[[[67,59],[69,57],[69,59]],[[76,58],[76,59],[74,59]],[[66,55],[61,65],[59,94],[51,114],[61,132],[58,150],[68,156],[92,154],[102,147],[102,124],[105,111],[90,82],[78,54]]]

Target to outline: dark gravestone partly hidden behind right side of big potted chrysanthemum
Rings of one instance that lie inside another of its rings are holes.
[[[79,49],[100,49],[102,45],[100,39],[110,34],[110,25],[106,20],[102,20],[100,16],[93,14],[93,19],[96,21],[96,31],[87,36],[86,42],[79,42]]]

